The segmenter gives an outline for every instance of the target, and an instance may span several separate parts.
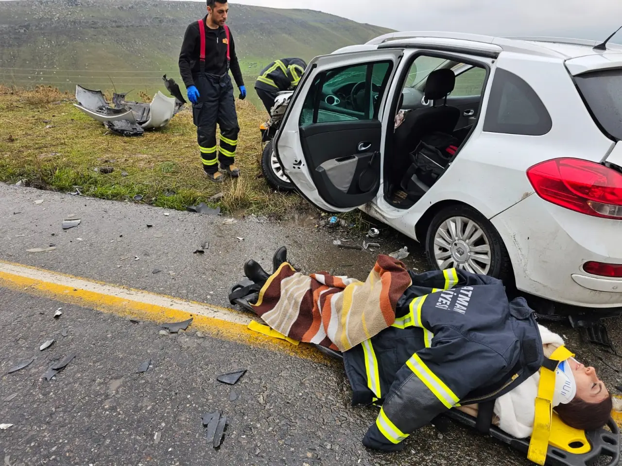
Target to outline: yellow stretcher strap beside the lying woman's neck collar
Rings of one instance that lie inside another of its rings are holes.
[[[574,354],[565,346],[557,348],[550,356],[550,360],[557,362],[565,361]],[[542,366],[540,369],[540,383],[538,385],[538,396],[536,397],[536,416],[534,418],[534,431],[529,441],[529,451],[527,459],[544,466],[546,454],[549,450],[549,437],[553,418],[553,395],[555,394],[555,368],[550,370]]]

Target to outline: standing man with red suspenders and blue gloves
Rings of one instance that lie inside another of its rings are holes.
[[[192,102],[203,170],[216,183],[223,181],[218,162],[225,173],[239,176],[239,168],[234,165],[239,126],[230,69],[240,98],[246,98],[233,35],[225,25],[228,12],[226,0],[207,0],[207,16],[188,26],[179,54],[179,72]],[[216,123],[220,126],[218,153]]]

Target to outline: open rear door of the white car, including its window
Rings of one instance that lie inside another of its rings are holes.
[[[328,212],[372,201],[381,184],[383,117],[401,49],[318,57],[289,105],[274,144],[285,174]]]

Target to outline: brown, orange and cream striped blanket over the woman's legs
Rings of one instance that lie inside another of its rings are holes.
[[[303,275],[285,262],[266,281],[253,309],[287,337],[347,351],[391,326],[397,300],[409,286],[406,265],[388,255],[378,256],[364,283]]]

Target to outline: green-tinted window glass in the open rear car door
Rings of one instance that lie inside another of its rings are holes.
[[[301,127],[378,118],[392,62],[364,63],[320,73],[305,97]]]

